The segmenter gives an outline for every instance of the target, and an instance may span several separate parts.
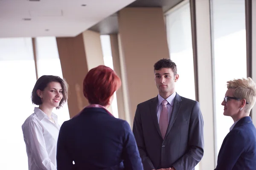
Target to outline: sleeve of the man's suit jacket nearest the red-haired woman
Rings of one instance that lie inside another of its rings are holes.
[[[140,157],[142,159],[142,163],[144,166],[144,170],[153,170],[155,169],[151,160],[146,154],[145,150],[145,142],[143,137],[142,123],[140,118],[140,105],[137,105],[136,113],[134,116],[134,125],[133,125],[133,133],[136,139],[138,149],[140,152]]]

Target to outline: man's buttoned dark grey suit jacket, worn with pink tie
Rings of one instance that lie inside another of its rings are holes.
[[[197,101],[176,94],[166,137],[157,121],[157,97],[137,105],[133,133],[144,170],[194,170],[204,155],[204,121]]]

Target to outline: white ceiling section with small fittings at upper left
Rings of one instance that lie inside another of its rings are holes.
[[[0,0],[0,37],[74,37],[133,2]]]

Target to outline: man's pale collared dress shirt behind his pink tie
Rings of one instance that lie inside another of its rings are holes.
[[[168,110],[168,123],[170,121],[170,117],[171,117],[171,114],[172,114],[172,106],[173,106],[173,102],[174,102],[174,98],[176,96],[176,92],[174,92],[171,96],[169,96],[166,100],[167,100],[167,110]],[[158,94],[157,96],[158,98],[158,102],[157,102],[157,120],[158,120],[158,123],[159,123],[159,119],[160,119],[160,113],[163,109],[163,105],[162,105],[162,102],[164,100],[164,98],[162,96],[160,96]]]

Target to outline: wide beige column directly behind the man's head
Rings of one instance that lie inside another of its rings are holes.
[[[154,63],[169,58],[162,8],[124,8],[118,13],[125,113],[130,125],[137,105],[158,94]]]

